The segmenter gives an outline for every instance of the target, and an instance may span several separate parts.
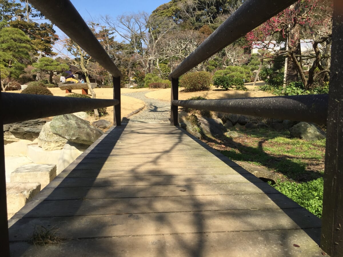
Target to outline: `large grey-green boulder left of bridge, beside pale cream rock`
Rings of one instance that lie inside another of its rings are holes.
[[[78,144],[91,145],[104,132],[74,114],[55,116],[50,123],[51,132]]]

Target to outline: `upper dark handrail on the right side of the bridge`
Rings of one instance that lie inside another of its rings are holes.
[[[182,61],[168,79],[178,78],[213,54],[283,11],[297,0],[247,0],[223,22],[202,44]]]

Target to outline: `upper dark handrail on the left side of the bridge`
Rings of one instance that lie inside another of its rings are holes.
[[[29,1],[112,76],[122,78],[122,73],[69,0]]]

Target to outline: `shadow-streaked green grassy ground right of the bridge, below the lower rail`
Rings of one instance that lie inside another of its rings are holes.
[[[289,131],[269,129],[239,133],[246,137],[215,139],[214,143],[225,145],[221,152],[233,161],[253,163],[279,174],[274,187],[321,217],[325,139],[306,141],[291,138]]]

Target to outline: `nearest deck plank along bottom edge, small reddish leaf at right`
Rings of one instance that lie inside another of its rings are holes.
[[[323,256],[316,244],[319,233],[319,229],[305,229],[159,234],[68,240],[60,246],[39,248],[15,242],[11,244],[11,256]]]

